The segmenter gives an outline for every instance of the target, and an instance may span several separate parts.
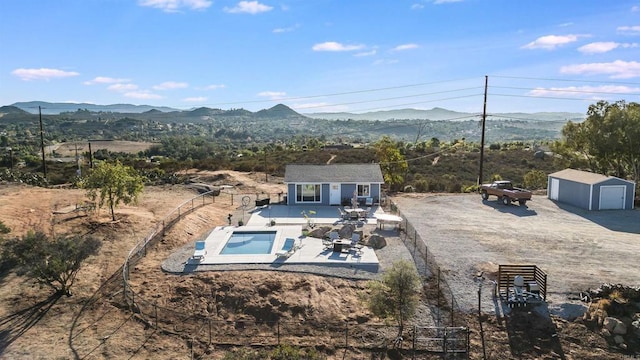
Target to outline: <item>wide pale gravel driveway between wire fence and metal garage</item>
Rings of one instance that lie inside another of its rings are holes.
[[[477,194],[392,198],[416,228],[464,310],[477,310],[479,271],[533,264],[548,275],[552,313],[572,317],[577,294],[603,283],[640,286],[640,211],[586,211],[534,196],[505,206]],[[492,313],[490,283],[483,311]]]

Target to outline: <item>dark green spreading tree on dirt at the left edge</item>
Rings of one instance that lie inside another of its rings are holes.
[[[95,255],[101,242],[93,237],[60,235],[53,239],[42,232],[3,243],[2,255],[11,259],[18,274],[47,285],[57,294],[71,296],[71,287],[84,260]]]

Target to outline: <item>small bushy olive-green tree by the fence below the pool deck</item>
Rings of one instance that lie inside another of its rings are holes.
[[[410,319],[418,305],[420,277],[415,266],[406,260],[393,263],[382,276],[382,281],[368,284],[370,293],[365,298],[369,310],[381,318],[398,322],[398,336],[402,336],[404,323]]]

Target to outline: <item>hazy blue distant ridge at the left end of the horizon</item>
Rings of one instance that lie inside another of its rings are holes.
[[[151,105],[132,105],[132,104],[112,104],[112,105],[96,105],[89,103],[50,103],[46,101],[29,101],[17,102],[12,104],[17,108],[27,111],[31,114],[38,113],[38,106],[42,109],[43,114],[54,115],[63,112],[75,112],[80,110],[89,110],[93,112],[113,112],[113,113],[133,113],[139,114],[150,110],[158,110],[162,112],[177,111],[178,109],[166,106]]]

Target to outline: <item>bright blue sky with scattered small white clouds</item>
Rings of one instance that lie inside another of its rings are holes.
[[[640,0],[2,0],[0,105],[571,111],[640,101]]]

